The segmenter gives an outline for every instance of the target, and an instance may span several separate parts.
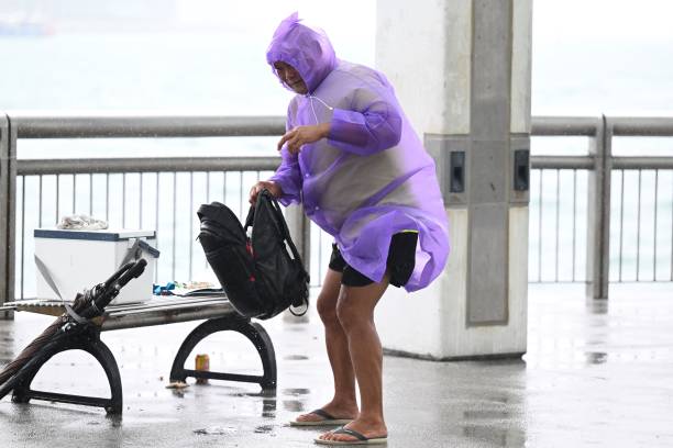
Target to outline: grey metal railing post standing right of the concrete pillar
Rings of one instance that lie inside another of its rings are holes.
[[[603,115],[589,141],[594,169],[588,171],[586,227],[586,295],[607,299],[610,276],[610,189],[613,177],[613,125]]]

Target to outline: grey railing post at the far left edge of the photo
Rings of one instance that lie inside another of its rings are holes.
[[[0,305],[14,300],[14,232],[16,203],[16,133],[0,114]],[[0,313],[0,320],[13,317]]]

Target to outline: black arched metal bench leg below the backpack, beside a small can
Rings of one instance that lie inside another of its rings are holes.
[[[260,358],[262,359],[262,366],[264,368],[264,374],[262,377],[185,369],[185,361],[198,343],[213,333],[225,331],[240,333],[253,343],[257,349],[257,352],[260,354]],[[170,369],[170,381],[185,381],[188,377],[207,378],[211,380],[253,382],[258,383],[263,390],[276,389],[277,370],[274,345],[272,344],[271,337],[264,327],[256,322],[252,323],[250,320],[242,317],[221,317],[206,321],[196,327],[194,332],[189,334],[189,336],[187,336],[180,346],[175,360],[173,361],[173,368]]]

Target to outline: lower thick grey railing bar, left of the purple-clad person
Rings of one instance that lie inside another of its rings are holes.
[[[264,171],[274,170],[279,164],[280,157],[20,159],[16,160],[16,173],[44,176],[88,172]]]

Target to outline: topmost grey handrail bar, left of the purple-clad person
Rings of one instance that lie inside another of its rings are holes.
[[[284,116],[20,115],[19,138],[256,137],[285,133]]]

